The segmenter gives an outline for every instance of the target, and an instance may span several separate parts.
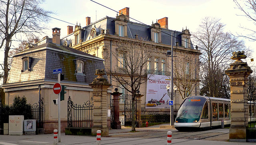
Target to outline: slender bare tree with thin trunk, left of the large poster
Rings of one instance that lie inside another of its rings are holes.
[[[135,99],[140,85],[147,81],[146,65],[155,46],[151,42],[136,39],[119,40],[113,56],[118,60],[110,74],[132,96],[132,131],[135,131]]]

